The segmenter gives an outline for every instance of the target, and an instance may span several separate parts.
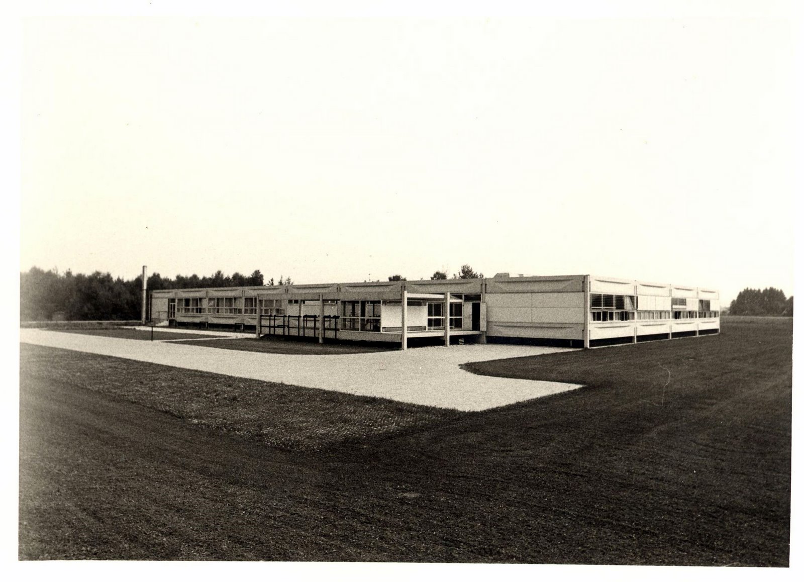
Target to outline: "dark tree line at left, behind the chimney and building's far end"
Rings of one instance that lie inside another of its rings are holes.
[[[265,281],[259,269],[251,275],[217,271],[211,277],[176,275],[148,277],[148,289],[194,289],[209,287],[273,286],[273,277]],[[279,277],[276,285],[293,285],[290,277]],[[51,321],[54,314],[63,314],[70,321],[113,320],[131,321],[140,318],[142,309],[142,275],[126,280],[109,273],[96,271],[59,273],[32,267],[19,276],[19,318],[23,322]]]

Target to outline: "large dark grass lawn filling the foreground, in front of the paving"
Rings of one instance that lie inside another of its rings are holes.
[[[19,555],[786,566],[792,321],[723,332],[471,413],[23,345]]]

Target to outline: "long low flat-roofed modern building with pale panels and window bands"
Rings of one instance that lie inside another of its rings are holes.
[[[594,347],[720,333],[714,289],[593,275],[376,281],[150,293],[158,325],[253,330],[257,337]],[[431,340],[433,341],[433,340]]]

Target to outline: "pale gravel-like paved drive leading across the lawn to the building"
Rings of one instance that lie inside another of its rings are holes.
[[[577,384],[492,378],[462,363],[568,351],[536,346],[425,347],[348,355],[285,355],[220,350],[203,345],[19,330],[20,341],[141,362],[215,372],[461,411],[479,411],[580,387]]]

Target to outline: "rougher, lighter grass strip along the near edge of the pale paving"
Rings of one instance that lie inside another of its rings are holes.
[[[343,441],[443,422],[459,414],[78,351],[28,344],[22,344],[21,350],[21,373],[27,379],[67,383],[283,449],[326,449]]]

